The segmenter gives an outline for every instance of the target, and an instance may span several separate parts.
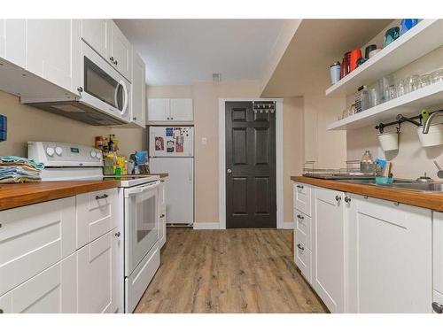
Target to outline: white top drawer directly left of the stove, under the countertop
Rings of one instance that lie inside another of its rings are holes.
[[[118,203],[117,189],[77,196],[77,248],[117,227]]]

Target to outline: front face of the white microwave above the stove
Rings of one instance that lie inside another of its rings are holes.
[[[130,83],[85,42],[82,42],[82,89],[82,103],[129,120]]]

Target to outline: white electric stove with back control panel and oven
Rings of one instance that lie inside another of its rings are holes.
[[[160,264],[159,175],[104,176],[102,152],[74,143],[28,142],[27,157],[43,163],[43,181],[120,181],[125,312],[132,313]]]

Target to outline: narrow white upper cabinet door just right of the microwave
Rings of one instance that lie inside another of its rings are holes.
[[[145,127],[146,83],[144,81],[144,61],[132,51],[132,116],[131,121]]]

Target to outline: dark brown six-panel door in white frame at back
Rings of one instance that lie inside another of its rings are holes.
[[[276,228],[276,114],[226,102],[226,227]]]

